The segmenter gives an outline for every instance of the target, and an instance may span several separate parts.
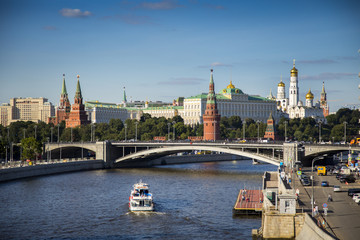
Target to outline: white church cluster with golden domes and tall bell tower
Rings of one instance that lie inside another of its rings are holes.
[[[325,100],[322,100],[321,104],[320,101],[314,104],[314,94],[311,92],[311,89],[305,95],[305,105],[299,97],[298,70],[295,68],[294,60],[293,68],[290,70],[289,98],[286,98],[285,83],[281,79],[277,87],[277,109],[287,113],[290,119],[312,117],[322,121],[325,120],[327,116],[325,113],[328,112],[329,106],[326,102],[324,84],[321,99]]]

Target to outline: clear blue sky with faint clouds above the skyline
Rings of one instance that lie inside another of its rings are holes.
[[[247,94],[287,96],[296,59],[300,99],[322,82],[330,111],[359,105],[359,1],[0,1],[0,102],[172,101],[219,92],[232,79]]]

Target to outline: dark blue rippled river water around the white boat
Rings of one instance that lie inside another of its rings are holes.
[[[261,218],[235,217],[241,188],[272,165],[227,161],[59,174],[0,183],[1,239],[251,239]],[[130,213],[142,179],[154,213]]]

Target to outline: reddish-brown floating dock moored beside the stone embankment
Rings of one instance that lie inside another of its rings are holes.
[[[264,196],[261,190],[245,190],[239,192],[235,206],[236,215],[261,215]]]

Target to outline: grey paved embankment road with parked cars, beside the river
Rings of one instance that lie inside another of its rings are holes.
[[[311,176],[311,168],[303,169]],[[311,214],[312,186],[302,186],[299,179],[295,178],[295,189],[299,189],[299,208]],[[326,231],[341,240],[360,239],[360,205],[348,196],[349,188],[360,188],[360,179],[355,183],[340,183],[335,175],[317,176],[314,171],[314,200],[320,215],[325,219]],[[329,187],[322,187],[321,181],[328,181]],[[338,185],[340,192],[334,192],[333,186]],[[328,202],[329,194],[333,201]],[[327,204],[327,216],[324,215],[323,204]],[[315,206],[315,205],[314,205]]]

